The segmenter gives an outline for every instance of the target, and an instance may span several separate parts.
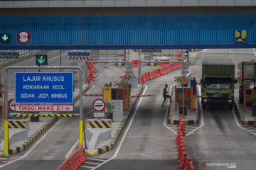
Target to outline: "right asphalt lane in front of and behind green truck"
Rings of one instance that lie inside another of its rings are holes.
[[[255,55],[252,49],[206,50],[198,52],[191,71],[196,72],[197,80],[200,80],[202,57],[232,57],[237,65],[255,59]],[[235,70],[237,72],[237,67]],[[207,106],[203,110],[203,122],[201,129],[186,138],[188,155],[196,169],[228,169],[225,165],[210,164],[205,168],[200,165],[203,162],[231,163],[236,169],[255,169],[256,137],[238,127],[233,111],[226,106]]]

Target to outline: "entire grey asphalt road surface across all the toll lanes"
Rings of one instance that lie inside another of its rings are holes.
[[[56,60],[58,60],[57,55],[58,52],[55,54]],[[198,52],[190,68],[191,73],[196,73],[197,81],[201,79],[201,58],[208,56],[233,57],[235,63],[238,64],[238,62],[250,61],[255,58],[255,51],[235,49]],[[55,61],[55,64],[57,62]],[[100,74],[92,81],[90,94],[102,93],[102,86],[105,83],[117,80],[117,77],[124,74],[123,67],[114,67],[114,64],[96,64],[95,67]],[[145,67],[145,69],[148,68]],[[131,127],[127,134],[122,134],[125,136],[124,141],[119,139],[115,149],[110,152],[112,155],[108,153],[109,155],[105,159],[110,159],[115,153],[116,157],[97,169],[178,169],[176,145],[174,144],[176,135],[163,125],[166,107],[162,108],[161,102],[163,101],[164,84],[173,85],[174,77],[180,74],[181,71],[178,69],[163,77],[146,82],[148,86],[146,94],[155,96],[142,99],[137,111],[134,112],[134,120],[130,120]],[[91,109],[92,101],[95,98],[84,98],[85,112]],[[75,107],[75,111],[78,111],[78,106]],[[255,168],[256,138],[238,128],[233,111],[225,106],[208,107],[203,110],[201,122],[203,127],[186,138],[188,155],[193,160],[196,169],[228,169],[227,166],[204,168],[199,165],[203,162],[206,164],[235,163],[237,169],[242,170]],[[55,169],[63,162],[65,155],[77,140],[78,121],[76,118],[61,119],[58,121],[58,125],[48,131],[48,135],[31,152],[27,151],[28,154],[24,159],[1,169],[31,169],[31,167],[33,169]],[[119,144],[122,144],[120,148]],[[25,153],[21,152],[16,157],[21,157]],[[95,157],[95,159],[100,159],[104,157],[103,155]],[[86,168],[80,167],[80,169]]]

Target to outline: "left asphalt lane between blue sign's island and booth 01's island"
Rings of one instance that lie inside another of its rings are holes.
[[[51,65],[58,65],[58,61],[60,59],[58,57],[58,52],[53,52],[48,56],[50,56],[48,57],[48,61],[52,61]],[[70,65],[70,61],[67,60],[68,57],[65,53],[63,54],[63,58],[62,65]],[[82,65],[84,63],[80,61],[77,62],[78,65]],[[35,61],[30,61],[23,63],[22,65],[32,65],[34,63]],[[145,66],[146,67],[142,68],[143,72],[156,68],[149,67],[147,65]],[[124,75],[124,67],[117,67],[114,64],[95,64],[95,69],[96,73],[100,74],[91,81],[90,89],[88,91],[90,94],[102,94],[102,87],[104,84],[117,80],[119,77]],[[25,72],[27,72],[27,70],[25,70]],[[10,79],[12,79],[12,73],[13,72],[9,73]],[[9,81],[9,86],[13,86],[13,81]],[[82,106],[85,113],[85,119],[88,118],[86,113],[92,109],[92,102],[96,98],[98,97],[84,97]],[[78,106],[79,104],[75,106],[75,113],[79,113]],[[78,121],[79,118],[61,118],[57,123],[55,123],[56,126],[53,130],[47,131],[47,135],[40,137],[36,143],[29,147],[25,152],[14,155],[14,157],[12,157],[8,162],[19,159],[18,161],[1,167],[1,169],[56,169],[65,160],[65,156],[78,141]],[[35,147],[33,148],[33,146]],[[6,162],[4,164],[6,164]]]

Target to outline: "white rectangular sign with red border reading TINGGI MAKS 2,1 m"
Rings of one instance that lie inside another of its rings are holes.
[[[16,105],[16,112],[73,112],[73,105]]]

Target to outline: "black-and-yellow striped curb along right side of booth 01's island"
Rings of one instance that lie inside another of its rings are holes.
[[[140,95],[142,93],[142,89],[143,89],[143,86],[140,86],[140,88],[137,91],[137,95]],[[117,140],[118,140],[119,136],[122,133],[122,130],[124,130],[124,126],[127,123],[127,120],[129,118],[129,115],[131,114],[132,108],[134,108],[135,104],[137,103],[137,100],[138,100],[138,98],[133,98],[132,107],[130,107],[127,110],[127,113],[125,113],[124,118],[122,119],[120,125],[118,126],[117,131],[114,132],[114,136],[112,137],[112,140],[110,141],[110,143],[108,143],[107,145],[105,145],[103,147],[97,148],[97,149],[92,149],[92,150],[84,149],[86,156],[95,157],[99,154],[108,152],[114,148],[114,146],[117,144]]]

